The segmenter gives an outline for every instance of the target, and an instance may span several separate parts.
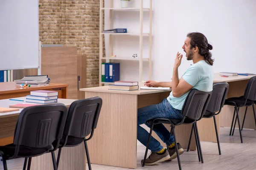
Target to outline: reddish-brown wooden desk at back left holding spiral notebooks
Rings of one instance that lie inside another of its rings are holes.
[[[58,91],[58,97],[67,99],[68,84],[50,83],[45,86],[31,86],[30,88],[21,88],[15,85],[15,82],[0,82],[0,99],[10,99],[14,97],[23,97],[30,94],[30,91],[35,90],[54,90]]]

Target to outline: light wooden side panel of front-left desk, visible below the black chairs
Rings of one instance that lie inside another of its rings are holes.
[[[55,151],[57,160],[58,150]],[[63,147],[61,150],[61,158],[58,169],[60,170],[86,170],[86,156],[84,143],[76,147]],[[31,170],[52,170],[51,153],[33,157],[31,162]]]

